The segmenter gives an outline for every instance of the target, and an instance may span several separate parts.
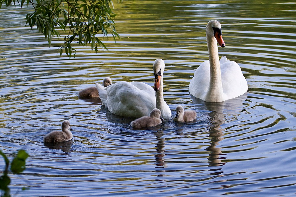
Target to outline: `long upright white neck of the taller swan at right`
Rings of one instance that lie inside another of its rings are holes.
[[[210,60],[210,85],[205,97],[205,101],[220,102],[223,100],[224,93],[222,89],[217,41],[213,35],[210,35],[209,32],[206,32],[206,36]]]

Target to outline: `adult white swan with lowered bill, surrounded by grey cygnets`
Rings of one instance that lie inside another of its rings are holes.
[[[162,59],[155,60],[153,73],[154,88],[143,82],[120,82],[104,89],[96,83],[103,105],[116,115],[140,118],[149,116],[154,108],[161,111],[165,120],[170,120],[171,111],[163,99],[163,71],[165,63]],[[156,93],[155,93],[156,92]]]

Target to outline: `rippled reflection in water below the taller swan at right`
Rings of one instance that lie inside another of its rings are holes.
[[[221,147],[219,147],[219,142],[223,140],[223,129],[221,125],[224,123],[224,112],[227,113],[238,113],[242,110],[242,104],[247,98],[247,93],[230,100],[223,102],[205,102],[201,99],[195,98],[193,96],[192,100],[194,104],[198,105],[200,110],[210,111],[208,115],[209,126],[207,127],[209,131],[210,146],[205,150],[210,151],[208,159],[209,166],[221,166],[225,163],[221,162],[221,159],[226,158],[226,154],[223,154]]]

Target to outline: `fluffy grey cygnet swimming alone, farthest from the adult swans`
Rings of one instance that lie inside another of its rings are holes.
[[[43,141],[44,143],[58,143],[69,141],[73,138],[71,131],[73,129],[70,126],[69,121],[63,121],[62,123],[62,131],[52,131],[51,133],[44,136]]]

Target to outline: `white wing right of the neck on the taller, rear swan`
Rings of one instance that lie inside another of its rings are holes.
[[[234,61],[221,64],[222,88],[227,99],[238,97],[248,90],[247,81],[239,65]]]

